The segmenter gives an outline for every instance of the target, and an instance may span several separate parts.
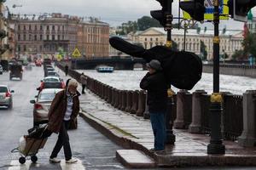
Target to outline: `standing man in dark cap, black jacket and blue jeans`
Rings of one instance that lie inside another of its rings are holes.
[[[166,106],[168,84],[160,61],[153,59],[148,64],[148,73],[140,82],[140,87],[148,91],[148,111],[154,132],[154,148],[151,151],[165,150],[166,140]]]

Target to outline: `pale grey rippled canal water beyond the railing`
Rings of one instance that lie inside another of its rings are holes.
[[[79,70],[85,75],[94,78],[100,82],[108,84],[113,88],[136,90],[139,88],[139,83],[147,71],[113,71],[113,73],[99,73],[95,70]],[[203,73],[201,81],[190,90],[204,89],[208,94],[212,94],[213,76],[209,73]],[[232,94],[243,94],[246,90],[256,89],[256,79],[251,77],[236,77],[220,75],[219,88],[221,92],[230,92]],[[177,88],[172,88],[177,92]]]

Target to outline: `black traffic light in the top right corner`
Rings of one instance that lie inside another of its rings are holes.
[[[229,0],[231,18],[234,20],[247,21],[247,13],[256,6],[255,0]]]

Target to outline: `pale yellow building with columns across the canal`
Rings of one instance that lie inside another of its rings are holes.
[[[220,31],[220,55],[228,54],[231,57],[236,50],[242,49],[243,41],[242,31]],[[172,29],[172,41],[177,43],[178,50],[186,50],[201,55],[201,42],[207,47],[207,59],[213,59],[213,30],[204,31],[189,29],[186,31],[184,41],[184,30]],[[133,42],[143,45],[143,48],[153,48],[156,45],[166,44],[166,31],[164,28],[152,27],[146,31],[137,31],[130,34],[129,37]]]

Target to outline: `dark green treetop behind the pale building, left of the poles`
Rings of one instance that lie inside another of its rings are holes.
[[[162,27],[158,20],[149,16],[143,16],[137,20],[137,27],[139,31],[145,31],[150,27]]]

